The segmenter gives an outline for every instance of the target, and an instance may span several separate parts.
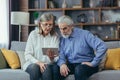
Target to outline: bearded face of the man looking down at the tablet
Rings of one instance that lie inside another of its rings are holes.
[[[60,32],[64,38],[67,38],[72,33],[72,26],[67,25],[66,23],[60,23],[59,25]]]

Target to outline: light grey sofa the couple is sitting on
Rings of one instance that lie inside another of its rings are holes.
[[[109,41],[105,43],[110,49],[120,47],[120,41]],[[25,59],[23,57],[25,46],[26,46],[26,42],[18,42],[18,41],[11,42],[10,49],[13,51],[16,51],[16,54],[19,56],[19,59],[21,62],[21,68],[20,69],[11,69],[11,68],[0,69],[0,80],[30,80],[29,74],[22,70],[22,66],[25,62]],[[17,52],[19,52],[19,54]],[[102,61],[104,62],[104,60]],[[119,76],[120,76],[120,70],[101,69],[99,72],[90,76],[88,80],[119,80],[120,79]],[[66,78],[66,80],[75,80],[74,75],[69,75]]]

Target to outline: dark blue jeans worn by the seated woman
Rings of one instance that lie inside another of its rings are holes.
[[[27,67],[26,72],[29,73],[30,80],[39,80],[39,79],[53,80],[52,79],[52,65],[50,64],[46,66],[46,70],[43,73],[41,73],[39,65],[35,63],[30,64]]]

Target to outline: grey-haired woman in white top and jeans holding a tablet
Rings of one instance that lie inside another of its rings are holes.
[[[42,48],[58,48],[59,39],[54,31],[55,19],[51,13],[44,13],[39,20],[38,28],[33,30],[25,49],[24,70],[30,74],[30,80],[52,80],[50,65],[54,55],[43,55]]]

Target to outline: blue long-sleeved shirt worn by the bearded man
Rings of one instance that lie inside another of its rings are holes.
[[[106,50],[105,43],[89,31],[73,28],[69,38],[60,38],[58,65],[67,60],[69,63],[91,62],[94,67],[99,64]]]

